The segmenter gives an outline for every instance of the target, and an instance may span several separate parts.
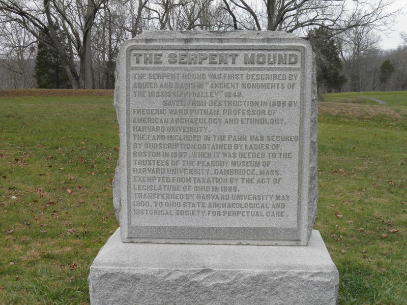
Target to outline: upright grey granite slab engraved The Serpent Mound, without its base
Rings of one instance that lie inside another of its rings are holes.
[[[307,245],[316,213],[308,42],[147,32],[120,51],[113,181],[122,240]]]

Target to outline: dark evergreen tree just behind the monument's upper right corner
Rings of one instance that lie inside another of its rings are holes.
[[[311,42],[316,55],[316,81],[318,89],[324,88],[327,92],[337,90],[340,92],[346,78],[341,75],[342,62],[339,58],[339,49],[328,29],[319,27],[311,29],[307,38]]]

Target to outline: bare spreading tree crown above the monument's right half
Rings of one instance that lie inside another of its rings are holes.
[[[392,17],[401,10],[390,10],[395,0],[263,0],[263,7],[259,8],[255,7],[257,2],[253,5],[245,0],[230,0],[230,5],[226,0],[223,3],[232,20],[233,16],[246,13],[257,30],[303,33],[310,27],[323,27],[333,33],[358,26],[388,29]],[[230,27],[237,28],[237,23],[239,21],[234,20]]]

